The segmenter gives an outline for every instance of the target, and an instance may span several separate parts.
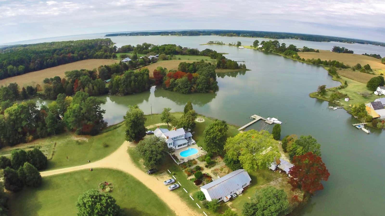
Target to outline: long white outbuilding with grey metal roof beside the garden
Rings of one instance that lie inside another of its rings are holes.
[[[249,186],[251,178],[244,169],[233,171],[215,181],[201,187],[201,191],[207,201],[218,199],[227,202],[232,194],[241,194],[243,189]]]

